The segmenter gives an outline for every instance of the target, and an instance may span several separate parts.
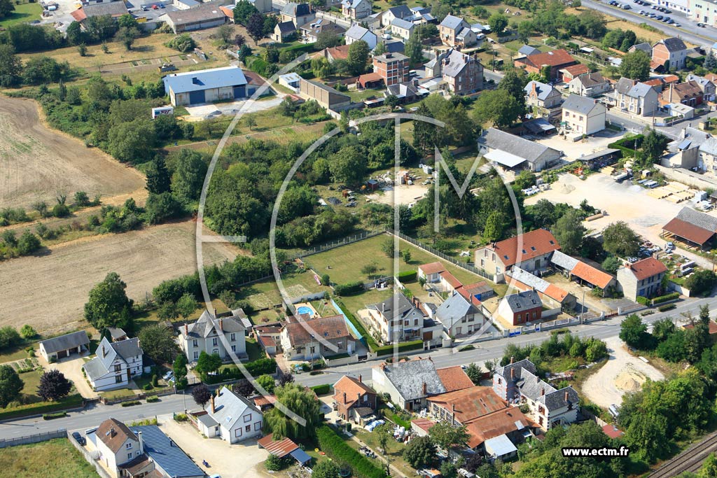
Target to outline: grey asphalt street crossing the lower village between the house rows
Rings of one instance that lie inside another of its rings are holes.
[[[680,315],[687,313],[696,317],[699,313],[700,306],[705,304],[708,304],[711,307],[711,316],[716,317],[717,297],[708,297],[706,299],[685,300],[683,302],[678,302],[677,308],[668,312],[658,312],[648,315],[643,320],[650,324],[663,317],[680,317]],[[623,317],[612,317],[609,320],[599,320],[590,324],[577,325],[569,328],[569,331],[581,337],[595,337],[604,340],[606,338],[615,337],[619,334],[620,322],[622,321],[622,318]],[[465,365],[473,362],[481,363],[485,360],[494,360],[503,357],[503,350],[505,350],[505,347],[508,344],[537,344],[546,340],[549,335],[549,332],[518,335],[517,337],[512,338],[500,338],[476,343],[475,350],[466,352],[458,352],[458,348],[452,348],[437,349],[432,350],[429,353],[417,353],[417,355],[431,357],[437,368]],[[296,381],[303,383],[306,386],[315,386],[322,383],[336,383],[338,378],[343,375],[358,377],[360,374],[365,379],[370,379],[371,367],[378,365],[379,363],[381,363],[381,360],[344,365],[341,367],[331,368],[328,371],[314,376],[311,376],[308,373],[303,373],[296,376]],[[16,421],[5,421],[0,423],[0,439],[27,436],[63,428],[67,430],[82,431],[98,426],[100,422],[110,417],[120,421],[133,421],[156,415],[171,414],[175,411],[182,412],[184,411],[184,408],[196,408],[194,400],[189,394],[186,396],[182,396],[181,394],[176,396],[164,396],[161,397],[161,401],[159,402],[142,403],[141,405],[131,407],[121,407],[119,405],[104,406],[98,404],[90,406],[83,411],[70,412],[69,416],[64,419],[43,421],[42,417],[34,417]]]

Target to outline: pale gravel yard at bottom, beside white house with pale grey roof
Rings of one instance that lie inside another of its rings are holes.
[[[219,474],[222,478],[269,476],[264,470],[264,461],[269,453],[260,449],[255,440],[230,445],[219,438],[204,438],[189,422],[178,423],[171,415],[158,416],[157,421],[162,431],[190,455],[206,474]],[[202,460],[206,460],[209,467],[205,467]]]

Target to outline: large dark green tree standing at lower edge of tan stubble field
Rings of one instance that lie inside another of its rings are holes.
[[[127,285],[120,279],[117,272],[110,272],[105,279],[90,290],[85,303],[85,319],[100,330],[117,325],[130,328],[133,301],[128,299],[125,289]]]

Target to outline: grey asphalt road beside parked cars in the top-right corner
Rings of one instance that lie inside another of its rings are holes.
[[[672,19],[677,18],[676,21],[682,25],[679,28],[670,26],[662,21],[652,20],[647,16],[642,16],[637,13],[640,10],[647,11],[647,9],[650,9],[649,6],[645,8],[645,6],[634,4],[629,0],[622,1],[622,3],[629,3],[632,9],[618,9],[609,5],[607,1],[582,0],[583,6],[600,11],[606,15],[612,15],[620,19],[632,21],[632,23],[635,24],[645,23],[651,25],[652,27],[662,30],[665,34],[673,35],[696,45],[708,46],[717,40],[717,29],[712,27],[697,27],[696,22],[688,20],[684,16],[678,16],[674,11],[672,14],[668,14],[668,16],[672,17]],[[656,11],[655,13],[659,12]]]

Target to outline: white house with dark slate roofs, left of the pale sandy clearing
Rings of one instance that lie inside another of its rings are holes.
[[[538,377],[536,366],[527,358],[493,374],[493,391],[513,405],[528,405],[533,421],[543,430],[576,421],[579,396],[574,388],[556,389]]]

